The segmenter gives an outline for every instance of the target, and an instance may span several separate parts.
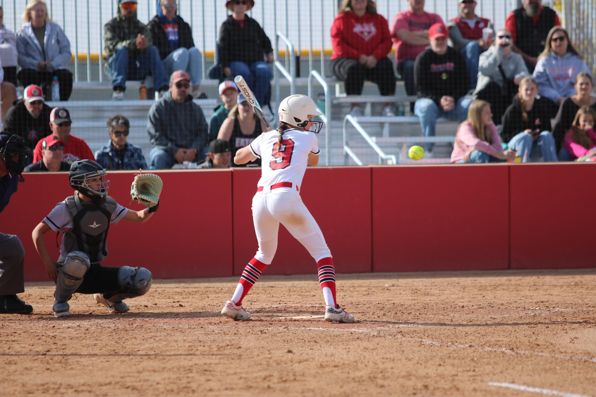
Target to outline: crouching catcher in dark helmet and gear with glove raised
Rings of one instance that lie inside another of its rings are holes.
[[[134,199],[148,205],[142,211],[122,207],[107,195],[110,181],[106,171],[92,160],[76,160],[70,167],[70,186],[75,195],[56,204],[33,230],[33,243],[45,264],[50,279],[56,282],[54,315],[69,317],[69,299],[73,293],[93,293],[95,301],[110,313],[124,313],[129,307],[122,302],[147,293],[151,272],[144,267],[107,267],[107,234],[110,223],[120,220],[145,222],[159,208],[162,180],[155,174],[135,177],[131,187]],[[147,190],[139,192],[137,190]],[[145,194],[143,196],[142,194]],[[44,235],[54,230],[63,233],[58,261],[52,261]]]

